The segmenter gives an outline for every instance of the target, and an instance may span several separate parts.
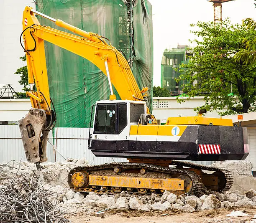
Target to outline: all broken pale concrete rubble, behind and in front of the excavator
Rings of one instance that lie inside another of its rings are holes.
[[[165,191],[162,195],[132,195],[122,191],[117,195],[98,195],[94,192],[87,194],[75,193],[67,188],[67,181],[61,173],[69,171],[71,168],[79,165],[86,165],[85,160],[70,160],[69,162],[47,163],[42,165],[43,175],[46,177],[44,190],[51,192],[50,202],[58,208],[61,213],[79,213],[83,212],[94,215],[97,211],[103,209],[114,209],[120,211],[138,210],[138,211],[172,211],[192,213],[201,210],[212,210],[215,208],[243,207],[245,205],[256,206],[256,191],[248,190],[242,193],[238,190],[231,190],[223,194],[210,195],[174,195]],[[15,168],[14,168],[15,166]],[[18,173],[17,170],[19,169]],[[3,170],[3,171],[1,171]],[[0,165],[0,185],[10,177],[17,175],[26,175],[35,170],[35,165],[26,162]],[[5,176],[5,177],[3,177]],[[8,177],[7,177],[8,176]],[[50,177],[49,177],[50,176]],[[2,177],[2,178],[1,178]],[[51,180],[49,180],[51,179]],[[57,184],[59,182],[59,184]],[[54,185],[55,184],[55,185]],[[57,185],[56,185],[57,184]],[[1,186],[0,186],[1,188]],[[107,211],[106,211],[107,212]]]

